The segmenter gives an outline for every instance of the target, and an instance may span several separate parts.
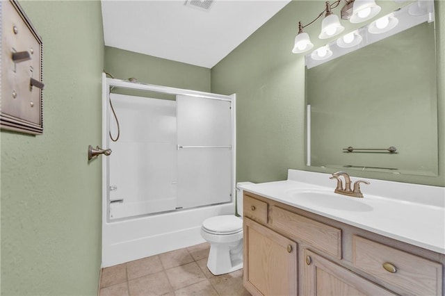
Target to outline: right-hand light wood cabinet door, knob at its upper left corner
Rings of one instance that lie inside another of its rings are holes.
[[[303,295],[395,295],[309,249],[302,270]]]

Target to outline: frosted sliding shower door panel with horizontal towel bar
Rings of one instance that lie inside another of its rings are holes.
[[[177,96],[177,207],[232,200],[232,103]]]

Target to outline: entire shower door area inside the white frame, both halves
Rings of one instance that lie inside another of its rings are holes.
[[[109,219],[232,202],[232,101],[111,94]],[[117,124],[111,124],[117,137]],[[107,135],[108,139],[108,135]]]

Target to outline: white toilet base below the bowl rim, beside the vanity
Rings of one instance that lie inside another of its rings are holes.
[[[210,243],[207,268],[214,275],[226,274],[243,268],[243,239],[236,245]]]

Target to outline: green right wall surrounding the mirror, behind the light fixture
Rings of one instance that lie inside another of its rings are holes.
[[[392,1],[380,3],[394,5]],[[445,3],[435,4],[439,176],[349,171],[353,176],[445,186],[445,24],[439,19],[445,13]],[[335,170],[305,165],[305,60],[304,55],[291,53],[298,21],[309,23],[321,9],[323,1],[291,1],[211,69],[212,92],[236,93],[238,181],[286,179],[288,168],[330,173]],[[313,36],[314,48],[323,45],[316,38],[321,26],[318,22],[305,29]],[[345,26],[345,32],[352,28],[351,24]],[[324,43],[327,42],[330,40]]]

